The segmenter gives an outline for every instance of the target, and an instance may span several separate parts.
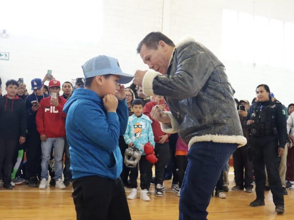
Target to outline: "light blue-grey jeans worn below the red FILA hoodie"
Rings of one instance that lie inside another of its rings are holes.
[[[50,160],[52,145],[55,159],[55,180],[57,181],[62,179],[64,138],[47,138],[47,141],[42,141],[41,179],[48,180],[48,161]]]

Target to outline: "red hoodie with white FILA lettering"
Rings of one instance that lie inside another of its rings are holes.
[[[40,101],[40,108],[36,115],[37,130],[40,135],[46,134],[47,138],[65,137],[65,118],[62,112],[66,99],[58,96],[59,105],[50,105],[51,96]]]

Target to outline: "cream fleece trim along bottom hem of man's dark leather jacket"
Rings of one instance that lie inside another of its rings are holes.
[[[216,143],[239,144],[238,147],[242,147],[242,146],[246,145],[246,143],[247,143],[246,138],[241,135],[228,136],[228,135],[206,134],[203,136],[195,136],[195,137],[191,138],[191,140],[189,141],[189,144],[188,144],[189,149],[194,143],[200,142],[200,141],[212,141],[212,142],[216,142]]]

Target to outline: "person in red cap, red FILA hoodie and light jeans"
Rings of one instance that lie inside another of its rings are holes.
[[[41,182],[39,189],[46,189],[48,185],[48,161],[51,157],[52,145],[54,148],[55,159],[55,187],[65,189],[62,181],[63,172],[63,150],[65,138],[65,118],[63,106],[66,99],[59,96],[60,82],[53,79],[49,82],[51,97],[40,101],[40,108],[36,115],[37,130],[40,134],[42,162],[41,162]]]

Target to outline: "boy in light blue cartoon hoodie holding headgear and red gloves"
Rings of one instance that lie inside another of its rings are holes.
[[[129,145],[129,147],[136,147],[142,152],[142,156],[139,161],[141,187],[140,198],[144,201],[150,201],[148,194],[152,179],[153,164],[146,160],[144,145],[150,142],[151,145],[155,146],[155,142],[151,127],[152,120],[148,116],[142,114],[143,105],[144,103],[141,99],[135,99],[132,102],[134,115],[130,116],[128,119],[128,127],[126,133],[124,134],[124,141]],[[138,165],[132,169],[135,169],[135,172],[131,172],[130,174],[130,187],[132,189],[127,199],[137,198]]]

